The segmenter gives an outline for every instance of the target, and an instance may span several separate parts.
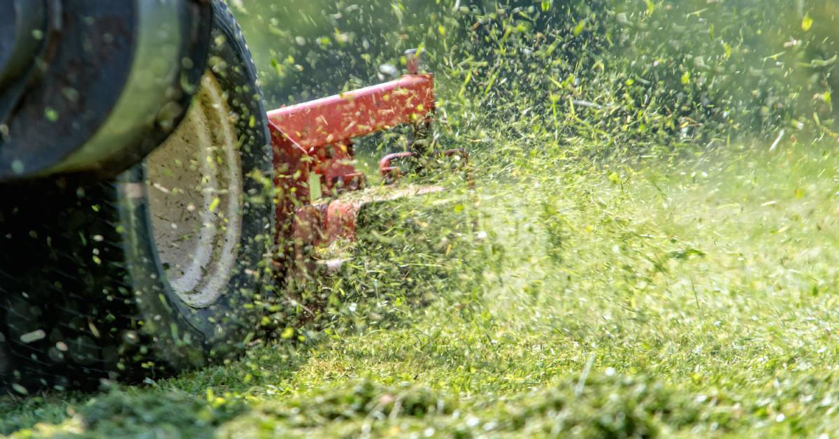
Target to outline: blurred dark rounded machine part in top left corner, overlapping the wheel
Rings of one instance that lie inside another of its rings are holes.
[[[205,0],[2,4],[17,62],[0,55],[0,182],[114,178],[168,137],[206,69]]]

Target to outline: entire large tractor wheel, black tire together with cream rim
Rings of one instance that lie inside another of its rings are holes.
[[[159,378],[235,357],[257,330],[268,121],[241,31],[213,9],[201,88],[143,164],[85,186],[0,186],[3,391]]]

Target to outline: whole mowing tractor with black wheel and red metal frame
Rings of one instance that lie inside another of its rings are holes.
[[[434,78],[267,112],[221,0],[0,0],[0,388],[84,388],[234,358],[266,285],[319,266],[435,157]],[[353,139],[414,127],[366,189]],[[384,190],[382,190],[385,188]],[[354,196],[347,196],[352,194]]]

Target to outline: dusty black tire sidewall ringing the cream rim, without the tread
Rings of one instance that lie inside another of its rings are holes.
[[[237,260],[226,292],[213,304],[190,307],[169,286],[154,244],[144,165],[121,175],[117,182],[126,259],[130,261],[127,269],[137,288],[137,305],[146,316],[144,329],[154,337],[158,357],[166,358],[175,368],[227,358],[253,335],[261,316],[256,302],[263,294],[265,255],[273,227],[270,196],[262,193],[259,179],[248,176],[257,172],[270,180],[272,173],[263,98],[241,30],[221,2],[213,5],[211,38],[208,67],[226,92],[232,112],[237,113],[236,136],[244,175]]]

